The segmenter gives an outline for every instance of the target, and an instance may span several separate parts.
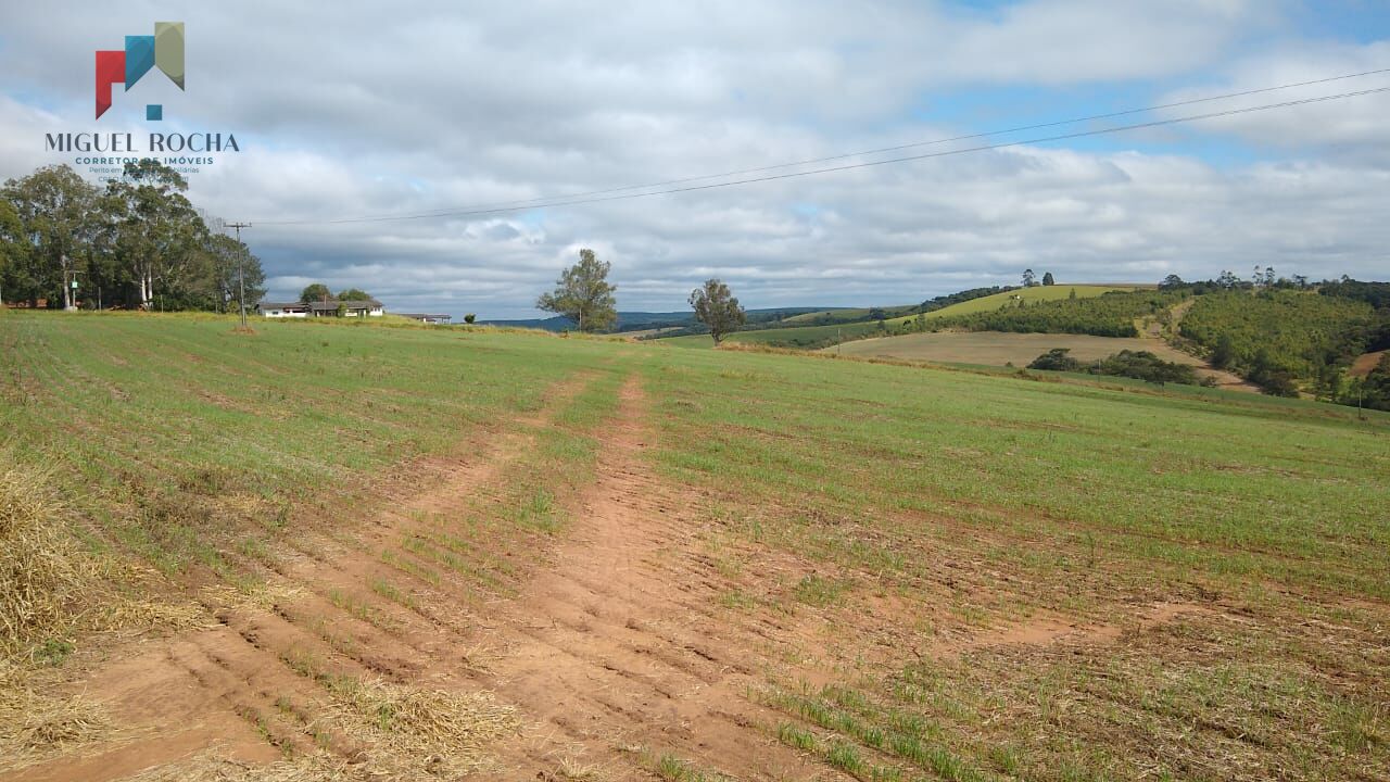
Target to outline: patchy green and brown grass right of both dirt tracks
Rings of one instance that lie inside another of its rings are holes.
[[[1322,778],[1390,760],[1358,739],[1387,729],[1390,658],[1372,616],[1390,598],[1390,417],[1215,390],[670,353],[645,369],[666,477],[721,498],[721,534],[764,559],[863,584],[830,598],[828,579],[808,577],[781,598],[826,604],[820,643],[862,685],[856,699],[777,705],[792,719],[783,743],[828,731],[866,764],[947,779],[1220,778],[1223,763]],[[733,580],[727,607],[777,598],[756,573]],[[873,593],[905,604],[899,622],[930,619],[909,632],[924,648],[942,626],[1037,612],[1105,623],[1155,601],[1258,619],[1202,615],[1113,647],[986,647],[894,671],[858,657],[883,632],[866,618]],[[1332,644],[1311,629],[1323,622],[1348,635]],[[848,750],[830,758],[833,740],[813,744],[823,763],[853,765]]]

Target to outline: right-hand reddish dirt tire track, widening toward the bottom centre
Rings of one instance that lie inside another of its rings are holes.
[[[678,490],[642,462],[651,438],[634,376],[567,543],[484,633],[502,650],[485,683],[532,721],[498,749],[509,778],[550,778],[562,764],[632,778],[639,749],[739,779],[823,772],[777,743],[777,715],[745,699],[766,661],[709,611],[723,584],[682,529],[698,519],[681,518]]]

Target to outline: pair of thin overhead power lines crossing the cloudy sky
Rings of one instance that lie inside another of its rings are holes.
[[[965,135],[965,136],[955,136],[955,138],[951,138],[951,139],[938,139],[938,141],[933,141],[933,142],[920,142],[920,143],[912,143],[912,145],[902,145],[902,146],[897,146],[897,147],[884,147],[881,150],[869,150],[869,152],[858,152],[858,153],[848,153],[848,154],[837,154],[837,156],[833,156],[833,157],[821,157],[821,159],[806,160],[806,161],[801,161],[801,163],[783,163],[783,164],[777,164],[777,166],[764,166],[764,167],[760,167],[760,168],[748,168],[748,170],[744,170],[744,171],[731,171],[731,173],[726,173],[726,174],[710,174],[710,175],[706,175],[706,177],[689,177],[689,178],[685,178],[685,179],[669,179],[666,182],[653,182],[653,184],[648,184],[648,185],[628,185],[628,186],[623,186],[623,188],[612,188],[612,189],[606,189],[606,191],[589,191],[589,192],[585,192],[585,193],[574,193],[574,195],[569,195],[569,196],[555,196],[555,198],[549,198],[549,199],[531,199],[531,200],[525,200],[525,202],[500,202],[505,206],[495,206],[495,207],[480,207],[480,209],[460,207],[460,209],[452,209],[452,210],[434,210],[434,212],[423,212],[423,213],[414,213],[414,214],[395,214],[395,216],[377,216],[377,217],[348,217],[348,218],[336,218],[336,220],[261,220],[260,224],[261,225],[336,225],[336,224],[350,224],[350,223],[392,223],[392,221],[406,221],[406,220],[428,220],[428,218],[434,218],[434,217],[473,217],[473,216],[482,216],[482,214],[503,214],[503,213],[510,213],[510,212],[524,212],[524,210],[528,210],[528,209],[546,209],[546,207],[555,207],[555,206],[577,206],[577,205],[584,205],[584,203],[602,203],[602,202],[610,202],[610,200],[628,200],[628,199],[648,198],[648,196],[657,196],[657,195],[671,195],[671,193],[682,193],[682,192],[692,192],[692,191],[708,191],[708,189],[716,189],[716,188],[728,188],[728,186],[735,186],[735,185],[749,185],[749,184],[755,184],[755,182],[770,182],[770,181],[777,181],[777,179],[791,179],[791,178],[796,178],[796,177],[810,177],[810,175],[817,175],[817,174],[831,174],[831,173],[838,173],[838,171],[851,171],[851,170],[856,170],[856,168],[870,168],[870,167],[874,167],[874,166],[887,166],[887,164],[892,164],[892,163],[909,163],[909,161],[915,161],[915,160],[929,160],[929,159],[934,159],[934,157],[948,157],[948,156],[954,156],[954,154],[967,154],[967,153],[973,153],[973,152],[987,152],[987,150],[991,150],[991,149],[1006,149],[1006,147],[1012,147],[1012,146],[1023,146],[1023,145],[1033,145],[1033,143],[1047,143],[1047,142],[1068,141],[1068,139],[1077,139],[1077,138],[1099,136],[1099,135],[1106,135],[1106,134],[1118,134],[1118,132],[1123,132],[1123,131],[1137,131],[1137,129],[1145,129],[1145,128],[1159,128],[1159,127],[1165,127],[1165,125],[1177,125],[1177,124],[1183,124],[1183,122],[1197,122],[1197,121],[1202,121],[1202,120],[1215,120],[1215,118],[1232,117],[1232,115],[1237,115],[1237,114],[1251,114],[1251,113],[1255,113],[1255,111],[1269,111],[1269,110],[1275,110],[1275,109],[1289,109],[1289,107],[1293,107],[1293,106],[1307,106],[1307,104],[1312,104],[1312,103],[1326,103],[1326,102],[1330,102],[1330,100],[1341,100],[1341,99],[1348,99],[1348,97],[1359,97],[1359,96],[1365,96],[1365,95],[1375,95],[1375,93],[1390,92],[1390,86],[1362,89],[1362,90],[1355,90],[1355,92],[1343,92],[1343,93],[1336,93],[1336,95],[1322,95],[1322,96],[1315,96],[1315,97],[1304,97],[1304,99],[1298,99],[1298,100],[1286,100],[1286,102],[1280,102],[1280,103],[1266,103],[1266,104],[1262,104],[1262,106],[1250,106],[1250,107],[1244,107],[1244,109],[1227,109],[1227,110],[1222,110],[1222,111],[1211,111],[1211,113],[1207,113],[1207,114],[1191,114],[1191,115],[1187,115],[1187,117],[1173,117],[1173,118],[1168,118],[1168,120],[1152,120],[1152,121],[1148,121],[1148,122],[1136,122],[1136,124],[1130,124],[1130,125],[1115,125],[1115,127],[1109,127],[1109,128],[1098,128],[1098,129],[1091,129],[1091,131],[1076,131],[1076,132],[1070,132],[1070,134],[1059,134],[1059,135],[1041,136],[1041,138],[1030,138],[1030,139],[1009,141],[1009,142],[999,142],[999,143],[990,143],[990,145],[979,145],[979,146],[970,146],[970,147],[962,147],[962,149],[952,149],[952,150],[947,150],[947,152],[929,152],[929,153],[922,153],[922,154],[909,154],[909,156],[901,156],[901,157],[888,157],[888,159],[884,159],[884,160],[869,160],[869,161],[863,161],[863,163],[851,163],[851,164],[845,164],[845,166],[830,166],[830,167],[824,167],[824,168],[812,168],[809,171],[792,171],[792,173],[787,173],[787,174],[773,174],[773,175],[766,175],[766,177],[752,177],[752,178],[746,178],[746,179],[733,179],[733,181],[727,181],[727,182],[713,182],[713,184],[708,184],[708,185],[687,185],[687,186],[678,186],[678,188],[648,191],[648,188],[659,188],[659,186],[666,186],[666,185],[673,185],[673,184],[696,182],[696,181],[702,181],[702,179],[712,179],[712,178],[723,178],[723,177],[730,177],[730,175],[739,175],[739,174],[744,174],[744,173],[771,171],[771,170],[787,168],[787,167],[792,167],[792,166],[803,166],[803,164],[808,164],[808,163],[820,163],[820,161],[830,161],[830,160],[842,160],[845,157],[858,157],[860,154],[872,154],[874,152],[892,152],[892,150],[912,149],[912,147],[917,147],[917,146],[927,146],[927,145],[935,145],[935,143],[947,143],[947,142],[951,142],[951,141],[966,141],[966,139],[974,139],[974,138],[986,138],[986,136],[992,136],[992,135],[1002,135],[1002,134],[1019,132],[1019,131],[1023,131],[1023,129],[1038,129],[1038,128],[1068,125],[1068,124],[1083,122],[1083,121],[1090,121],[1090,120],[1098,120],[1098,118],[1105,118],[1105,117],[1119,117],[1119,115],[1126,115],[1126,114],[1136,114],[1136,113],[1143,113],[1143,111],[1152,111],[1155,109],[1166,109],[1166,107],[1173,107],[1173,106],[1186,106],[1186,104],[1202,103],[1202,102],[1209,102],[1209,100],[1220,100],[1223,97],[1237,97],[1237,96],[1243,96],[1243,95],[1254,95],[1254,93],[1270,92],[1270,90],[1276,90],[1276,89],[1287,89],[1289,86],[1302,86],[1302,85],[1309,85],[1309,83],[1320,83],[1320,82],[1326,82],[1326,81],[1346,79],[1346,78],[1352,78],[1355,75],[1379,74],[1379,72],[1390,72],[1390,68],[1386,68],[1386,70],[1382,70],[1382,71],[1365,71],[1364,74],[1351,74],[1351,75],[1346,75],[1346,77],[1332,77],[1329,79],[1318,79],[1318,81],[1314,81],[1314,82],[1298,82],[1298,83],[1294,83],[1294,85],[1282,85],[1282,86],[1275,86],[1275,88],[1264,88],[1264,89],[1248,90],[1248,92],[1243,92],[1243,93],[1230,93],[1227,96],[1212,96],[1212,97],[1194,99],[1194,100],[1190,100],[1190,102],[1172,103],[1172,104],[1165,104],[1165,106],[1155,106],[1155,107],[1150,107],[1150,109],[1133,109],[1133,110],[1126,110],[1126,111],[1116,111],[1116,113],[1112,113],[1112,114],[1097,114],[1094,117],[1086,117],[1086,118],[1080,118],[1080,120],[1065,120],[1065,121],[1058,121],[1058,122],[1044,122],[1044,124],[1040,124],[1040,125],[1024,125],[1024,127],[1020,127],[1020,128],[1012,128],[1012,129],[1006,129],[1006,131],[991,131],[991,132],[986,132],[986,134],[972,134],[972,135]],[[642,189],[642,191],[646,191],[646,192],[637,192],[637,193],[624,192],[624,191],[632,191],[632,189]],[[619,192],[621,192],[623,195],[606,195],[606,193],[619,193]],[[594,198],[591,198],[591,196],[594,196]],[[510,205],[510,206],[506,206],[506,205]],[[486,206],[486,205],[482,205],[482,206]]]

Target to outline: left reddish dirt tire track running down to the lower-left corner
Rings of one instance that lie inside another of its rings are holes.
[[[473,611],[453,584],[416,579],[411,594],[425,597],[411,609],[373,594],[367,583],[410,577],[378,558],[382,547],[428,526],[417,511],[460,509],[485,493],[525,452],[534,430],[594,378],[585,373],[555,387],[541,410],[492,434],[475,456],[425,462],[425,477],[398,488],[400,504],[375,523],[350,534],[310,533],[289,557],[260,562],[268,605],[228,604],[225,593],[235,590],[200,593],[215,623],[117,651],[114,662],[82,682],[86,697],[121,725],[111,740],[0,774],[0,782],[120,779],[210,749],[238,764],[314,751],[350,764],[363,747],[324,726],[332,705],[320,673],[477,690],[466,654]]]

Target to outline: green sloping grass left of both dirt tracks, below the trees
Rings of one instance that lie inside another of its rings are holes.
[[[229,323],[15,314],[0,330],[14,459],[88,487],[75,511],[168,575],[222,570],[249,522],[279,534],[288,508],[332,515],[363,479],[485,438],[603,349],[574,340],[541,360],[549,340],[527,355],[486,346],[491,331]]]

